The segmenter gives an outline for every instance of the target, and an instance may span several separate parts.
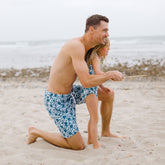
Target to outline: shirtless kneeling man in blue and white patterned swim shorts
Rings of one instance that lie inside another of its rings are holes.
[[[104,44],[108,34],[108,18],[93,15],[86,21],[85,34],[82,37],[69,40],[57,55],[51,68],[48,88],[45,92],[45,105],[49,115],[54,119],[61,135],[49,133],[30,127],[28,144],[38,137],[56,146],[74,150],[85,148],[83,138],[76,122],[75,105],[83,100],[81,86],[73,86],[77,76],[85,88],[95,87],[112,79],[121,81],[122,73],[108,71],[100,75],[90,75],[85,62],[85,54],[90,48]],[[101,103],[102,136],[115,136],[110,133],[114,93],[104,92],[98,88],[98,99]],[[92,104],[92,102],[91,102]]]

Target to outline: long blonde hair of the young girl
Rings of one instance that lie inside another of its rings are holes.
[[[100,44],[100,45],[96,45],[94,48],[91,48],[88,50],[86,56],[85,56],[85,61],[87,62],[87,64],[91,64],[92,65],[92,61],[94,59],[94,57],[96,55],[99,56],[99,58],[101,59],[101,62],[103,62],[103,60],[105,59],[104,56],[101,56],[101,54],[99,54],[99,50],[101,48],[104,48],[104,47],[109,47],[110,46],[110,41],[108,38],[106,38],[106,41],[105,41],[105,44]]]

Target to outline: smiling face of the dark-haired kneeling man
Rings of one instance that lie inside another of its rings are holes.
[[[105,44],[105,39],[109,36],[108,30],[108,23],[101,21],[100,25],[94,30],[94,38],[97,44]]]

